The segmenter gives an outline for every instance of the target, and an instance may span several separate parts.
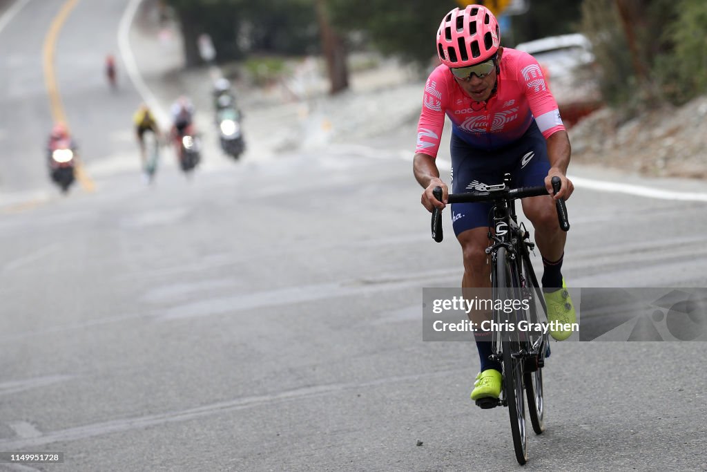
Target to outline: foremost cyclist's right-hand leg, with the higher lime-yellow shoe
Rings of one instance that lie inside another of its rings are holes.
[[[518,185],[544,185],[545,177],[550,168],[547,157],[547,144],[537,125],[532,125],[520,143],[518,149]],[[532,153],[532,154],[530,154]],[[562,277],[562,262],[567,234],[560,229],[555,203],[549,195],[524,198],[523,213],[530,219],[535,229],[535,243],[542,255],[544,272],[542,287],[545,292],[549,321],[560,323],[575,323],[576,313],[572,300],[564,287]],[[556,340],[564,340],[571,331],[563,331],[550,327],[550,333]]]

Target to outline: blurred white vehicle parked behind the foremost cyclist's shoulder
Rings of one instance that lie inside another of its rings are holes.
[[[514,49],[537,59],[563,120],[572,124],[602,105],[592,43],[585,35],[551,36],[521,42]]]

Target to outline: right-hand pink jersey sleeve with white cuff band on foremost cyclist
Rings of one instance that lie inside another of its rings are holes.
[[[530,105],[537,127],[547,139],[552,134],[565,129],[557,102],[545,82],[540,64],[530,54],[524,53],[518,67],[518,82]]]

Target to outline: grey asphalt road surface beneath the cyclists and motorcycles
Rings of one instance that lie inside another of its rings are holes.
[[[123,2],[94,3],[57,44],[66,113],[90,159],[136,159],[124,123],[141,98],[100,74]],[[468,398],[474,345],[422,341],[422,287],[461,273],[399,156],[414,129],[368,151],[212,151],[192,180],[165,163],[152,188],[109,166],[95,192],[59,197],[29,164],[51,124],[38,38],[59,7],[30,0],[0,31],[0,109],[17,110],[0,115],[2,190],[49,195],[0,207],[0,451],[62,451],[64,464],[0,470],[520,467],[507,410]],[[705,203],[588,188],[570,203],[573,286],[706,286]],[[707,468],[703,343],[552,349],[547,432],[531,433],[525,468]]]

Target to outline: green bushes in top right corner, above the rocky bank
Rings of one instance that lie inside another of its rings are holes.
[[[581,29],[590,38],[600,66],[600,88],[609,104],[631,110],[657,100],[679,105],[707,92],[707,2],[633,0],[632,57],[617,1],[585,0]],[[648,72],[641,80],[636,62]]]

